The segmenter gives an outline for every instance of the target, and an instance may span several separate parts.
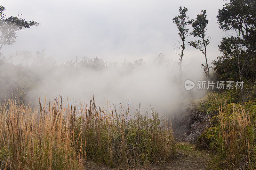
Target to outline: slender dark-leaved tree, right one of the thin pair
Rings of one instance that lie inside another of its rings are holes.
[[[189,24],[192,25],[193,31],[190,35],[193,35],[196,38],[199,38],[197,41],[190,41],[188,42],[190,46],[199,49],[205,56],[205,64],[202,64],[204,73],[209,78],[209,65],[207,63],[207,52],[206,47],[210,44],[210,38],[206,38],[206,26],[209,24],[209,20],[206,18],[206,10],[202,10],[201,14],[196,16],[196,19],[189,20]]]

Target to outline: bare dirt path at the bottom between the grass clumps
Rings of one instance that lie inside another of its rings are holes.
[[[190,144],[178,144],[177,145],[177,155],[176,158],[168,162],[164,165],[155,165],[152,164],[150,166],[141,166],[132,169],[138,170],[155,170],[155,169],[207,169],[209,167],[209,162],[211,160],[212,155],[205,151],[198,151],[194,148],[193,145]],[[98,166],[96,164],[86,165],[85,169],[101,169],[101,170],[115,170],[120,168],[111,169],[109,167]]]

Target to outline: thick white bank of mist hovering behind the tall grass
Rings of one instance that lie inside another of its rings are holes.
[[[16,63],[1,63],[1,100],[13,97],[26,103],[62,96],[62,99],[88,101],[94,95],[96,101],[105,106],[114,103],[130,111],[141,103],[144,112],[151,107],[168,115],[179,109],[180,103],[189,98],[200,97],[204,91],[187,91],[187,79],[204,78],[201,63],[189,61],[183,64],[183,74],[177,62],[170,61],[163,53],[152,58],[151,63],[143,59],[106,63],[102,59],[80,58],[57,65],[44,51],[19,52]],[[17,62],[18,61],[18,62]]]

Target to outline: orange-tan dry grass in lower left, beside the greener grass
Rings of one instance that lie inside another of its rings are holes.
[[[9,100],[0,107],[0,169],[77,169],[82,167],[72,118],[58,102],[40,113]],[[73,147],[75,146],[75,147]],[[81,148],[82,149],[82,148]]]

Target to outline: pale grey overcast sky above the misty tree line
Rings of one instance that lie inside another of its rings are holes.
[[[23,18],[40,24],[21,30],[15,45],[3,47],[4,54],[46,48],[46,54],[57,63],[76,56],[98,56],[119,63],[124,58],[132,61],[141,57],[149,62],[160,52],[178,61],[172,45],[179,37],[172,18],[178,15],[179,6],[188,8],[190,18],[207,10],[210,62],[220,55],[218,44],[225,36],[216,18],[222,0],[2,0],[1,4],[8,16],[20,11]],[[191,36],[187,38],[187,42],[192,40]],[[186,45],[184,61],[196,59],[203,63],[204,56]]]

